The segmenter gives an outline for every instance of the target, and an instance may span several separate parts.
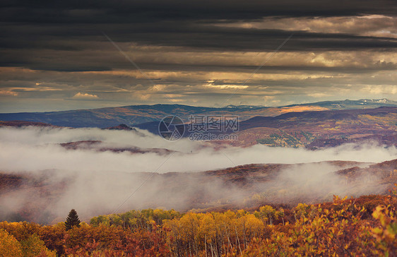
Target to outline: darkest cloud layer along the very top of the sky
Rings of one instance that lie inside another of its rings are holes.
[[[395,1],[2,1],[1,20],[34,23],[134,23],[253,20],[263,16],[394,15]]]

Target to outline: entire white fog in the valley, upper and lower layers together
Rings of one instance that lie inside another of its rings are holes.
[[[167,148],[176,152],[114,153],[98,151],[97,145],[80,150],[59,145],[73,141],[102,141],[101,147],[107,148]],[[370,144],[318,151],[263,145],[216,150],[187,139],[165,141],[147,131],[97,128],[0,128],[0,143],[1,172],[24,178],[13,190],[0,191],[0,216],[44,223],[63,220],[71,208],[88,219],[141,208],[183,211],[236,204],[313,203],[330,201],[333,194],[382,193],[385,186],[379,186],[379,178],[372,174],[347,182],[335,173],[357,163],[324,161],[383,162],[395,159],[397,153],[396,148]],[[319,163],[296,165],[304,162]],[[223,175],[203,172],[251,163],[291,165],[259,165],[245,173],[244,167],[236,167]],[[19,217],[20,213],[28,214]]]

